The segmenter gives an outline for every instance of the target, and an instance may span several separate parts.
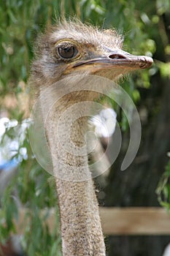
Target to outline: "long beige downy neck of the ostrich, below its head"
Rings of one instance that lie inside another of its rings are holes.
[[[72,150],[70,153],[63,148],[68,140],[66,135],[70,132],[73,145],[82,147],[85,151],[87,117],[77,121],[72,120],[71,115],[62,118],[66,108],[74,103],[73,100],[67,102],[64,99],[55,105],[46,122],[58,192],[63,256],[104,256],[104,237],[93,180],[88,168],[87,151],[86,154],[77,156]],[[56,130],[56,123],[60,119],[61,124]],[[68,122],[73,123],[70,130]]]

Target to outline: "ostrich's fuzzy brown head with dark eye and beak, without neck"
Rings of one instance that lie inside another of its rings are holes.
[[[152,59],[121,50],[123,38],[115,30],[98,30],[80,21],[59,23],[39,38],[32,73],[39,85],[66,76],[101,75],[115,80],[134,69],[150,67]]]

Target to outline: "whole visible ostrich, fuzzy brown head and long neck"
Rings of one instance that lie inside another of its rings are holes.
[[[47,143],[52,155],[64,256],[106,255],[96,191],[88,168],[88,154],[85,154],[88,117],[83,115],[83,107],[79,107],[79,102],[93,101],[99,95],[95,91],[81,90],[83,80],[77,80],[77,75],[117,80],[120,75],[134,69],[150,67],[150,57],[132,56],[121,50],[122,44],[123,39],[115,30],[99,30],[79,20],[59,22],[47,29],[36,43],[31,81],[40,97]],[[61,84],[58,83],[60,81]],[[69,92],[69,84],[71,87],[76,84],[77,90]],[[55,85],[54,90],[45,93],[51,85]],[[45,116],[47,106],[60,90],[65,90],[65,94]],[[72,105],[76,108],[63,118],[65,110]],[[75,112],[80,116],[77,120],[74,120]],[[56,131],[58,120],[61,121],[61,129]],[[72,125],[68,126],[68,123]],[[65,150],[68,132],[73,148],[83,148],[83,154]],[[79,178],[74,179],[74,176]]]

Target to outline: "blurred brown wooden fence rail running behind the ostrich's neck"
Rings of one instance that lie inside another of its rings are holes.
[[[18,233],[23,233],[25,209],[20,209]],[[170,235],[170,216],[163,208],[100,208],[106,235]],[[55,212],[50,210],[47,225],[53,230]]]

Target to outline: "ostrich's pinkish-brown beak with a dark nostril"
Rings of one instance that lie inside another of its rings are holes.
[[[103,69],[120,69],[123,72],[134,70],[134,69],[144,69],[152,65],[152,58],[147,56],[134,56],[124,50],[115,49],[110,50],[107,54],[101,54],[101,56],[95,56],[91,59],[77,60],[73,64],[73,68],[87,69],[90,68],[91,72],[97,72]]]

